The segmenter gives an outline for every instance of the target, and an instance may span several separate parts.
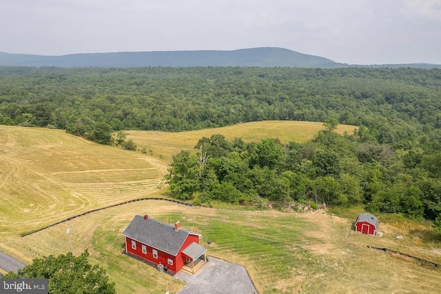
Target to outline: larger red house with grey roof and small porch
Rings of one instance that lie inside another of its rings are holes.
[[[194,273],[194,264],[206,262],[207,249],[199,245],[201,235],[174,225],[160,222],[145,215],[136,215],[123,232],[125,252],[141,257],[153,264],[162,264],[177,273],[187,264]]]

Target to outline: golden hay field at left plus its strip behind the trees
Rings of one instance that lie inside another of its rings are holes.
[[[353,126],[339,126],[351,133]],[[321,123],[258,121],[185,133],[130,131],[154,157],[102,146],[62,130],[0,126],[0,233],[33,231],[87,210],[144,197],[163,187],[172,155],[192,149],[201,137],[229,140],[306,141]],[[19,220],[19,222],[16,222]]]

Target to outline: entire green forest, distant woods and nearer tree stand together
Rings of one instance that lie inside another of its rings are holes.
[[[0,68],[0,124],[104,144],[103,133],[125,129],[329,118],[360,128],[329,128],[307,144],[202,138],[198,152],[174,157],[170,186],[200,202],[260,197],[440,215],[440,69]]]

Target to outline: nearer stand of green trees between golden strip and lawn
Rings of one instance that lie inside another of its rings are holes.
[[[174,155],[170,190],[205,205],[365,204],[371,211],[441,220],[440,150],[380,143],[364,127],[342,136],[325,125],[328,130],[305,144],[203,137],[193,151]]]

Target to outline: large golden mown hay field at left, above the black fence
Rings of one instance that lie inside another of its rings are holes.
[[[0,126],[0,235],[148,195],[167,164],[61,130]]]

